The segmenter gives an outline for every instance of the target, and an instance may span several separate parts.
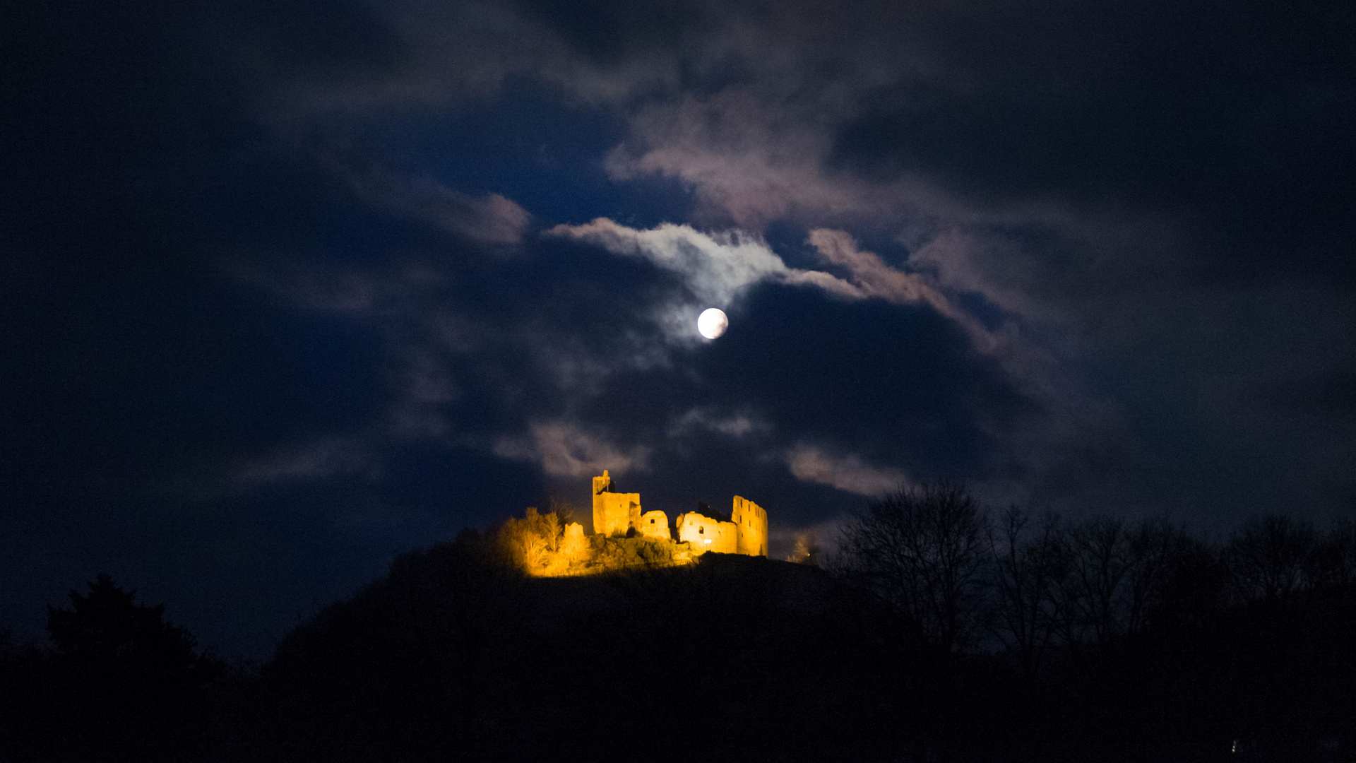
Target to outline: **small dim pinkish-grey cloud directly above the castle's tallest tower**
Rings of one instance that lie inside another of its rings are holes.
[[[605,468],[613,474],[644,471],[650,452],[643,445],[617,445],[598,432],[565,421],[537,422],[527,428],[526,437],[499,437],[494,444],[496,456],[536,462],[555,477],[591,477]]]

